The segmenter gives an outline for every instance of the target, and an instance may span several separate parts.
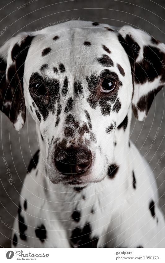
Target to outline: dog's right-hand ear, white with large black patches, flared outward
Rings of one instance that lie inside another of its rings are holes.
[[[119,41],[131,64],[132,109],[137,119],[143,121],[165,83],[165,44],[131,26],[120,28]]]

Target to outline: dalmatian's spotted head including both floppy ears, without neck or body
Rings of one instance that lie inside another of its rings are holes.
[[[53,183],[101,181],[113,164],[115,131],[131,103],[135,116],[143,120],[164,83],[164,44],[131,27],[115,30],[85,21],[9,43],[8,51],[4,46],[0,52],[3,68],[9,49],[12,58],[5,68],[3,85],[7,91],[7,85],[12,87],[9,99],[3,91],[3,111],[9,116],[12,109],[9,117],[19,130],[25,121],[25,106],[18,107],[24,92],[45,142]]]

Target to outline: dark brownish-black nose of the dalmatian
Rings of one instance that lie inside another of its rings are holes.
[[[79,176],[90,168],[92,153],[86,147],[59,147],[54,152],[54,163],[60,173]]]

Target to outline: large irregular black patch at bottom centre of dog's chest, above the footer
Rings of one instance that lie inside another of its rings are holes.
[[[71,242],[79,248],[97,248],[98,237],[91,238],[91,233],[89,223],[83,229],[77,227],[72,231]]]

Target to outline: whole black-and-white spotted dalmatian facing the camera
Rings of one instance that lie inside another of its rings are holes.
[[[154,175],[129,140],[132,112],[143,121],[165,83],[165,45],[70,21],[12,37],[0,57],[1,110],[20,131],[27,108],[39,144],[12,247],[165,247]]]

